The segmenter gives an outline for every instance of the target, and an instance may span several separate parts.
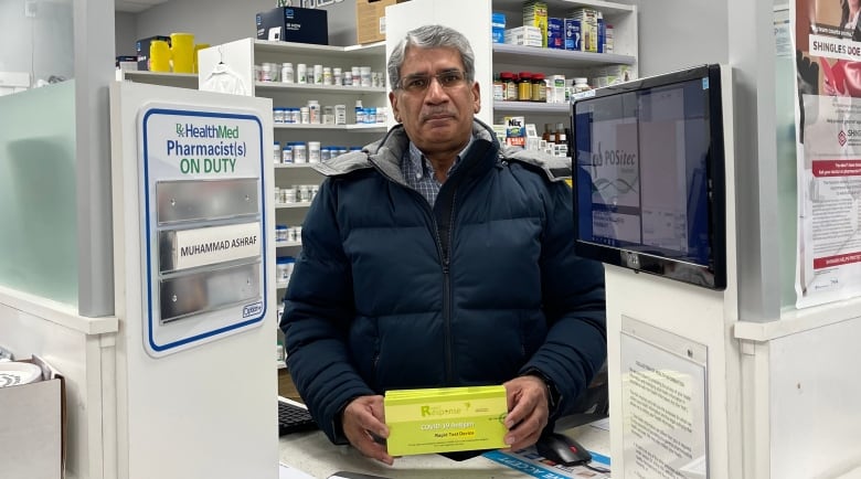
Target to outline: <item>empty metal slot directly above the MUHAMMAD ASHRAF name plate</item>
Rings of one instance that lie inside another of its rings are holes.
[[[256,178],[160,181],[156,184],[159,225],[261,214]]]

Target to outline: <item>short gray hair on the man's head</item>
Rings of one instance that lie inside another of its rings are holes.
[[[386,70],[392,89],[401,82],[401,66],[404,64],[406,49],[455,49],[460,53],[464,62],[464,72],[469,83],[476,78],[476,55],[469,45],[469,40],[457,30],[443,25],[425,25],[406,32],[406,36],[395,45],[389,57]]]

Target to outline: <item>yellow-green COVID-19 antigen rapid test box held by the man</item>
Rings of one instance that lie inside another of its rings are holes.
[[[389,391],[383,404],[392,456],[508,447],[502,385]]]

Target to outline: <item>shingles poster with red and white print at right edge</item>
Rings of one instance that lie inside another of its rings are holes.
[[[836,0],[795,7],[801,308],[861,295],[861,22]]]

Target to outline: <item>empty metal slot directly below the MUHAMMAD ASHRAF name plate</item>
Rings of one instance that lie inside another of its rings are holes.
[[[261,263],[161,279],[159,291],[162,323],[249,302],[262,298]]]

